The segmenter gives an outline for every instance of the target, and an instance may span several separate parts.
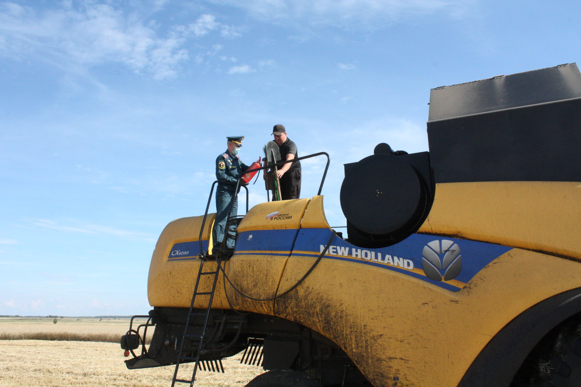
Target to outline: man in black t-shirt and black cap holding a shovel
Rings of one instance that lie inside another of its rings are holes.
[[[274,142],[281,152],[281,160],[298,158],[296,144],[286,137],[286,129],[281,124],[272,128]],[[278,178],[281,182],[282,200],[298,199],[300,197],[300,161],[288,162],[278,169]]]

